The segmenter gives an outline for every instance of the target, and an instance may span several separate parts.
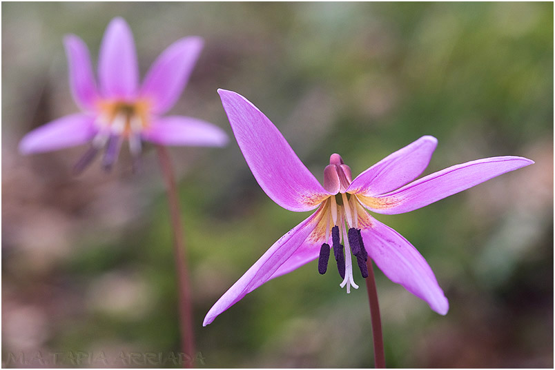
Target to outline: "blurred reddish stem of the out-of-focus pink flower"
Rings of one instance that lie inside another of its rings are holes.
[[[173,247],[175,251],[175,267],[177,269],[177,291],[179,295],[179,332],[181,335],[181,349],[191,361],[185,361],[184,367],[192,368],[195,358],[195,336],[193,333],[193,306],[191,300],[191,286],[189,284],[188,269],[185,255],[184,232],[182,228],[181,213],[179,212],[179,196],[175,185],[175,174],[166,147],[156,145],[158,159],[170,207],[171,225],[173,230]]]

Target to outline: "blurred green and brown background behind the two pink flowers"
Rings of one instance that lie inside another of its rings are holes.
[[[133,30],[142,76],[173,41],[204,37],[173,114],[231,136],[216,90],[240,92],[320,181],[333,152],[358,174],[424,134],[439,140],[426,174],[487,156],[534,159],[424,209],[376,216],[427,258],[447,316],[376,276],[389,367],[553,367],[552,3],[2,3],[4,366],[41,366],[10,353],[64,353],[50,367],[74,367],[67,356],[78,351],[179,351],[155,152],[139,174],[124,147],[113,172],[96,162],[77,177],[86,147],[17,152],[29,130],[77,112],[64,34],[84,39],[96,65],[116,16]],[[308,214],[262,192],[233,137],[224,149],[170,151],[204,366],[373,367],[364,285],[347,295],[315,263],[202,327],[217,298]]]

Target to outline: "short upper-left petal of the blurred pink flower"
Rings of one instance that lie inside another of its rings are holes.
[[[98,91],[87,45],[75,34],[68,34],[64,37],[64,46],[68,57],[73,99],[85,110],[94,110]]]

